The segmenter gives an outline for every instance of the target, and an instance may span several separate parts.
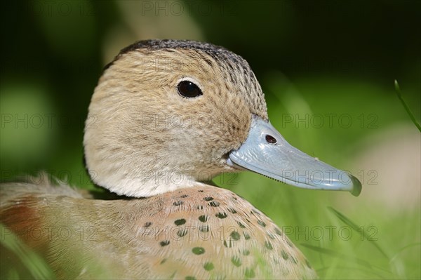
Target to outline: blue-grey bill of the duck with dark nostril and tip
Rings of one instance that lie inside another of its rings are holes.
[[[353,175],[291,146],[272,124],[254,115],[248,138],[227,162],[296,187],[348,191],[354,196],[361,192],[361,182]]]

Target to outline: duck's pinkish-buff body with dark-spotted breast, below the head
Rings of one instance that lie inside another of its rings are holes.
[[[60,188],[67,195],[60,197],[45,194],[45,186],[30,187],[32,194],[28,185],[22,185],[25,195],[18,196],[20,205],[9,204],[1,220],[12,228],[20,225],[27,215],[16,219],[11,212],[25,209],[36,217],[25,227],[50,230],[43,240],[27,241],[46,250],[43,253],[60,278],[95,277],[85,267],[105,270],[109,278],[117,279],[122,275],[126,279],[316,277],[272,220],[226,189],[191,187],[146,199],[102,201],[83,199],[66,186]],[[14,192],[22,195],[18,189]],[[47,244],[58,245],[48,248]],[[69,253],[76,257],[71,262]],[[98,255],[107,258],[98,260]]]

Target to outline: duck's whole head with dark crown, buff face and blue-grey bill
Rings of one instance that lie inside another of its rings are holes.
[[[361,192],[352,175],[300,152],[276,131],[246,60],[195,41],[124,48],[95,88],[83,144],[93,182],[126,196],[244,169],[298,187]]]

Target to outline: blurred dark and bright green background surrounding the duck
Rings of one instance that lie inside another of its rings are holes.
[[[6,1],[1,180],[45,170],[92,188],[83,125],[102,67],[140,39],[209,41],[248,60],[288,142],[363,192],[215,183],[283,227],[323,279],[420,279],[421,138],[394,91],[397,79],[420,121],[420,26],[421,1]]]

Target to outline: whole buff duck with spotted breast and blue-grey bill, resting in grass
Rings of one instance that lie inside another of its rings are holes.
[[[210,180],[252,171],[361,192],[272,126],[246,60],[199,41],[123,48],[95,87],[83,147],[91,180],[112,199],[46,176],[1,185],[0,222],[58,279],[316,279],[278,225]]]

